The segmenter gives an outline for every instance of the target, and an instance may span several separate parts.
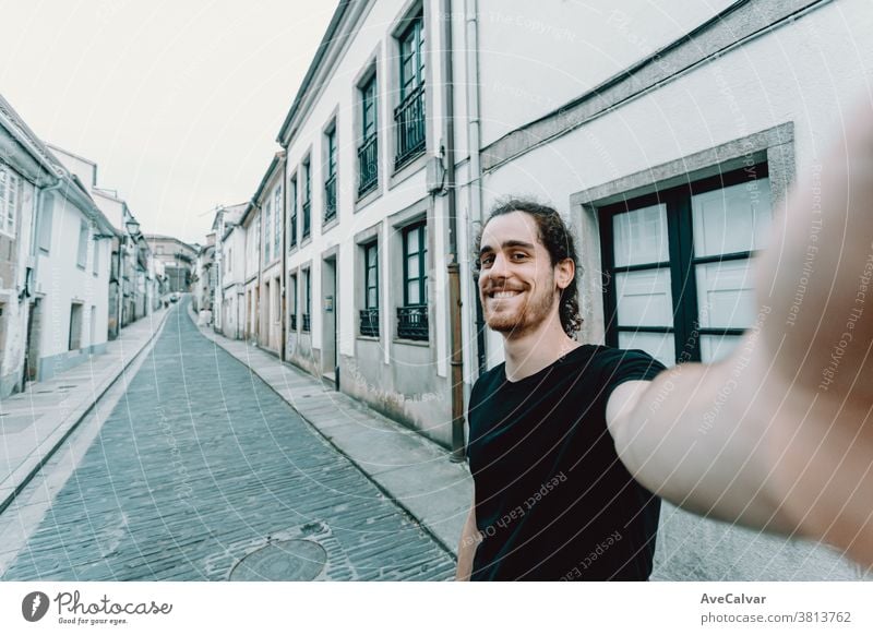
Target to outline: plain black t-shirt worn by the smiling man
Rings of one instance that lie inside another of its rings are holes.
[[[585,345],[518,382],[486,372],[469,403],[475,580],[645,580],[660,500],[619,460],[612,390],[663,366],[642,350]]]

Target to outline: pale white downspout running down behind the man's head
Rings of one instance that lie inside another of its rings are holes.
[[[469,188],[468,188],[468,205],[470,211],[470,218],[473,219],[473,230],[478,232],[482,227],[482,164],[479,157],[481,147],[481,132],[479,119],[479,40],[478,40],[478,21],[479,21],[479,7],[477,0],[467,0],[467,148],[470,155],[469,158]],[[478,283],[478,279],[477,279]],[[477,285],[478,287],[478,285]],[[485,355],[485,315],[482,314],[482,303],[479,299],[478,288],[474,288],[473,297],[476,299],[476,349],[477,361],[479,363],[479,374],[483,373],[486,369],[486,355]]]

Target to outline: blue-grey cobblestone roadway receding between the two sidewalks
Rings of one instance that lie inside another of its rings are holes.
[[[220,580],[294,539],[324,549],[322,579],[451,579],[453,558],[184,311],[2,579]]]

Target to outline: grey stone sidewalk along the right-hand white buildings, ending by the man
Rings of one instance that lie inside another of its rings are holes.
[[[196,324],[193,313],[189,316]],[[200,332],[224,348],[297,410],[348,457],[386,498],[404,507],[445,549],[457,555],[473,502],[473,480],[450,452],[274,355],[211,327]]]

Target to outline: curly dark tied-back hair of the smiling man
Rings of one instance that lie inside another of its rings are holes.
[[[552,266],[555,266],[564,259],[572,260],[575,265],[575,275],[570,281],[570,285],[561,292],[561,303],[559,305],[561,326],[563,326],[564,333],[573,337],[573,335],[582,328],[577,285],[582,269],[578,265],[578,255],[576,254],[573,235],[570,232],[563,218],[561,218],[561,215],[553,207],[549,207],[548,205],[543,205],[530,199],[510,197],[498,201],[491,209],[491,214],[488,215],[488,219],[482,224],[479,235],[476,237],[474,257],[477,275],[479,272],[479,250],[482,244],[482,231],[485,231],[486,226],[492,218],[503,214],[511,214],[512,212],[524,212],[534,217],[539,230],[539,240],[549,252],[549,260]]]

